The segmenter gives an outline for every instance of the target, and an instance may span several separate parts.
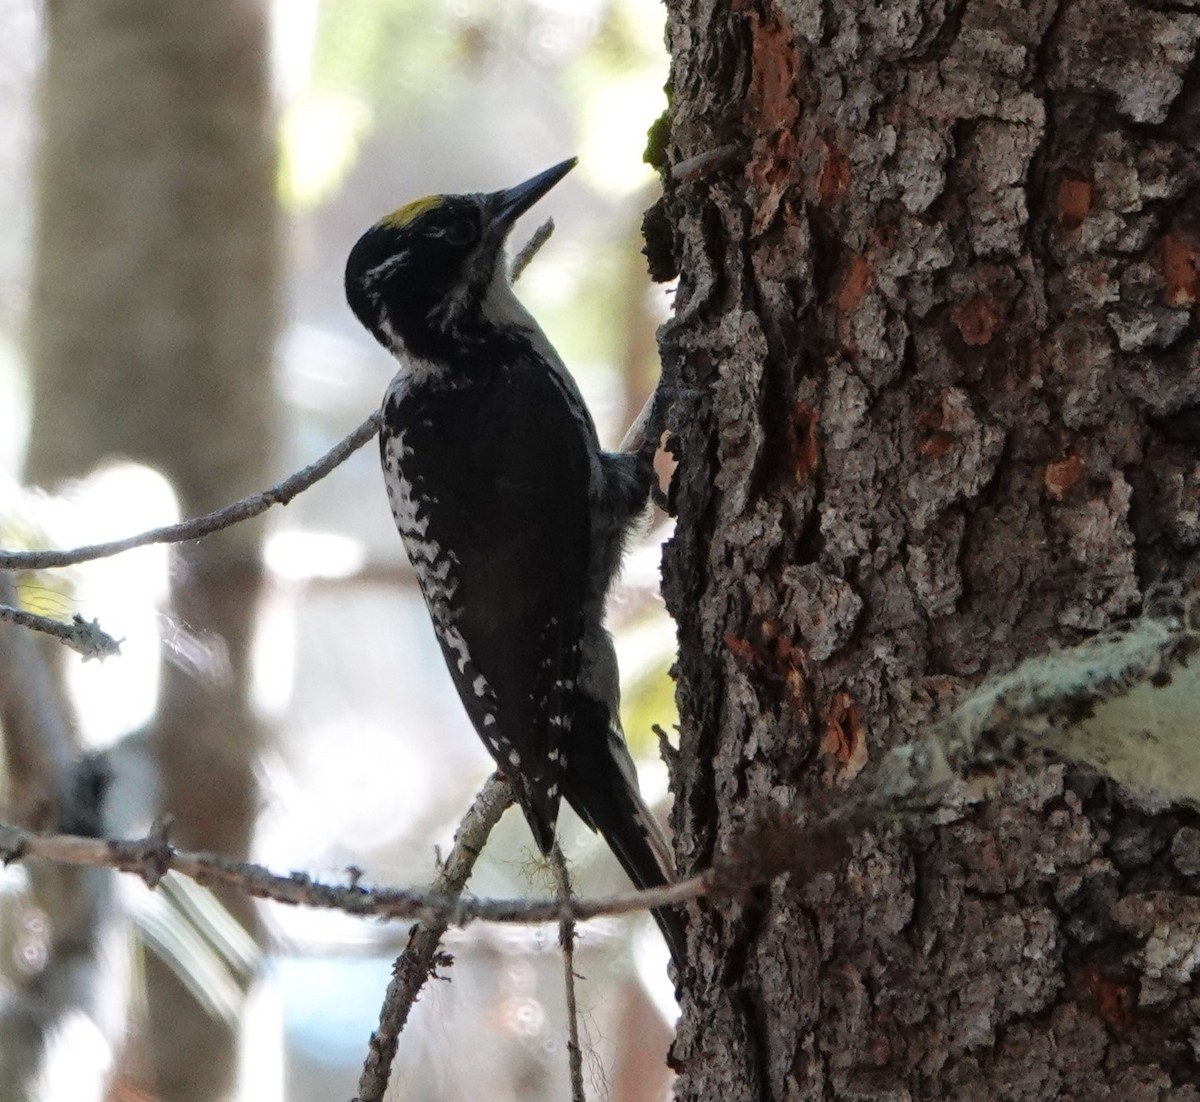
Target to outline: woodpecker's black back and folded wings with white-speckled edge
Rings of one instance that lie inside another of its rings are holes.
[[[550,370],[529,365],[413,389],[384,413],[384,436],[403,435],[422,532],[402,534],[446,665],[548,852],[580,665],[588,441]]]

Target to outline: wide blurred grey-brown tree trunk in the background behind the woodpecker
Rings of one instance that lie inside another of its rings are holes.
[[[30,313],[31,481],[108,457],[161,471],[184,515],[271,472],[275,142],[264,0],[47,5]],[[186,846],[246,854],[258,748],[247,705],[260,529],[174,558],[151,744]],[[226,898],[247,926],[250,904]],[[148,960],[146,1084],[221,1097],[233,1026]]]

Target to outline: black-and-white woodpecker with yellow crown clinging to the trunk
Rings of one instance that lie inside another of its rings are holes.
[[[346,297],[400,364],[383,401],[384,483],[475,731],[542,854],[565,798],[652,887],[674,879],[673,862],[625,745],[604,607],[653,445],[601,450],[505,254],[516,220],[574,166],[401,206],[354,245]],[[654,917],[682,970],[682,914]]]

